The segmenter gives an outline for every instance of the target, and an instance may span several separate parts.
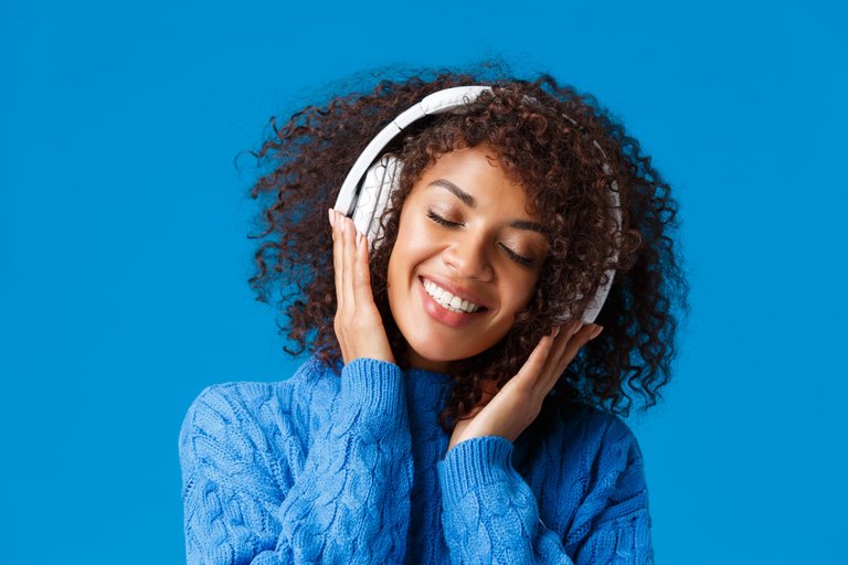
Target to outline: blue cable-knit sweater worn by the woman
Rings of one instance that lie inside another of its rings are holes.
[[[316,360],[204,390],[180,431],[188,563],[653,562],[642,454],[573,405],[447,455],[446,375]]]

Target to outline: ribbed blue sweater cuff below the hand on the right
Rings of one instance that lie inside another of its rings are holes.
[[[520,478],[511,458],[512,443],[505,437],[475,437],[457,444],[438,462],[445,501],[454,504],[479,487]]]

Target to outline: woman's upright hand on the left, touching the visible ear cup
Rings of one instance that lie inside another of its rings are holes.
[[[358,234],[353,221],[330,209],[332,266],[336,271],[333,330],[347,365],[369,358],[394,363],[385,327],[371,291],[368,238]]]

